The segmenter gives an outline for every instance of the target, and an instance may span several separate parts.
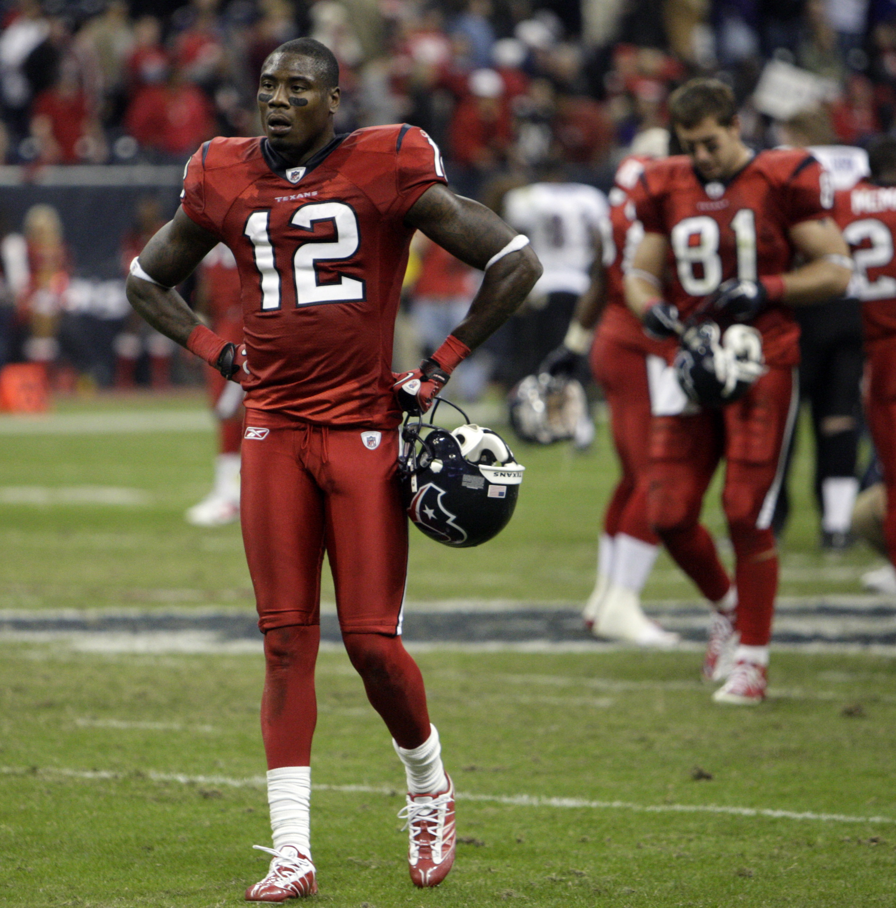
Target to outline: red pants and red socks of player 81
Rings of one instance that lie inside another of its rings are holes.
[[[726,461],[722,507],[734,546],[737,627],[745,646],[767,646],[772,635],[778,556],[771,523],[799,404],[796,387],[795,370],[773,367],[722,410],[653,420],[650,521],[711,600],[724,596],[728,581],[697,521],[719,460]]]

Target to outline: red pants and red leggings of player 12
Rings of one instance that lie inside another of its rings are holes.
[[[429,736],[429,716],[419,669],[399,636],[408,521],[396,475],[398,432],[264,421],[246,411],[241,522],[265,633],[268,767],[310,762],[324,551],[343,640],[370,703],[399,745],[417,747]]]

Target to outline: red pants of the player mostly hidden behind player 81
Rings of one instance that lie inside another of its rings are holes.
[[[591,369],[610,408],[613,444],[622,468],[604,515],[604,532],[625,533],[656,545],[659,539],[647,518],[651,417],[645,354],[598,331]]]

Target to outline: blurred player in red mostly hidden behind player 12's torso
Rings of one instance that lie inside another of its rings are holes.
[[[197,309],[211,320],[212,331],[225,341],[242,343],[240,272],[233,253],[222,243],[202,260]],[[241,387],[220,371],[205,370],[212,413],[218,419],[218,456],[214,486],[199,504],[187,509],[188,523],[222,527],[240,518],[240,442],[242,439]]]

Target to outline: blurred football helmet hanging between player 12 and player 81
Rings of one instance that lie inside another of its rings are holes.
[[[581,382],[568,375],[527,375],[507,395],[510,425],[524,441],[550,445],[576,437],[588,412]]]

